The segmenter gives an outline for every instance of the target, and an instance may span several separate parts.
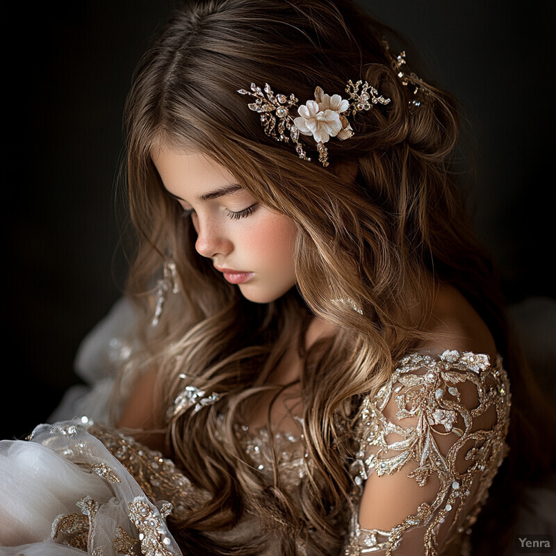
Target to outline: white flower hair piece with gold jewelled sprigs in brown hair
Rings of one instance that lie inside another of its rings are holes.
[[[261,115],[261,125],[267,136],[277,141],[293,142],[297,155],[311,161],[301,142],[300,133],[312,136],[318,150],[318,160],[328,165],[328,150],[325,142],[331,137],[345,140],[354,135],[347,117],[367,111],[374,104],[388,104],[390,99],[379,96],[378,91],[366,81],[347,82],[345,92],[349,99],[340,95],[326,95],[322,88],[315,89],[315,99],[297,106],[295,95],[275,95],[268,83],[263,90],[251,83],[251,90],[240,89],[241,95],[250,95],[255,101],[248,104],[250,110]],[[297,117],[291,111],[297,108]]]

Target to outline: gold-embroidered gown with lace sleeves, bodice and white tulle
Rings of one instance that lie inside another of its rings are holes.
[[[81,361],[98,371],[103,361],[129,355],[129,345],[116,337],[108,341],[113,330],[122,332],[117,321],[129,310],[120,304],[92,334],[78,368]],[[104,341],[109,349],[99,352]],[[172,461],[97,420],[105,413],[110,382],[108,375],[97,379],[92,393],[70,400],[71,409],[58,413],[81,417],[40,425],[28,441],[0,442],[0,554],[182,554],[172,524],[209,495]],[[176,401],[211,402],[193,387]],[[353,511],[338,523],[345,539],[341,554],[469,554],[468,533],[507,455],[510,403],[500,358],[446,351],[399,361],[377,393],[363,398],[350,433],[357,447],[347,462]],[[245,458],[269,484],[275,445],[281,480],[294,498],[311,465],[297,424],[299,430],[277,434],[236,430]],[[383,480],[403,493],[389,513],[391,523],[361,528],[363,487]],[[260,529],[256,514],[247,511],[233,530],[211,535],[240,546]],[[271,543],[262,554],[279,556],[276,550]],[[298,550],[313,554],[302,541]]]

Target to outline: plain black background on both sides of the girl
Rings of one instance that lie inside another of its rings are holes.
[[[3,9],[8,335],[0,438],[30,432],[79,382],[79,341],[120,295],[124,99],[171,5],[80,0]],[[411,38],[407,58],[420,58],[464,108],[477,232],[500,265],[509,302],[552,304],[555,3],[363,5]]]

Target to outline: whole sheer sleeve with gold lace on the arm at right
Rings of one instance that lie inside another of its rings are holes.
[[[346,555],[465,554],[506,453],[510,393],[500,358],[412,354],[363,400]]]

